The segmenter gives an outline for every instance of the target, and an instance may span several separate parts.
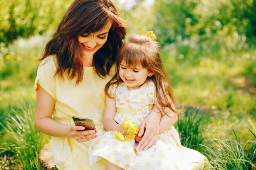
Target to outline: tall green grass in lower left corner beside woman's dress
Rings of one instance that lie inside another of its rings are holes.
[[[34,102],[24,102],[19,109],[12,108],[6,113],[2,126],[0,144],[1,155],[9,155],[16,162],[14,167],[23,170],[39,170],[38,153],[40,148],[49,141],[49,137],[39,132],[34,125]],[[9,160],[9,159],[8,159]],[[2,164],[12,168],[7,161]]]

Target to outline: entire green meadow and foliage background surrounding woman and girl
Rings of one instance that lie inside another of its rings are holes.
[[[250,166],[246,164],[240,169],[251,167],[249,160],[254,159],[256,146],[256,0],[113,2],[127,21],[127,36],[141,29],[154,31],[162,45],[161,57],[175,98],[191,106],[177,123],[182,144],[200,152],[205,149],[194,144],[206,145],[212,165],[216,163],[215,168],[225,169],[218,162],[223,160],[214,161],[219,154],[214,147],[222,145],[217,143],[228,137],[229,148],[235,139],[239,146],[247,146],[244,150],[248,154],[242,156],[249,155],[246,160]],[[132,2],[135,3],[130,5]],[[18,150],[29,148],[30,144],[19,146],[13,139],[17,130],[6,127],[14,127],[18,115],[22,120],[17,119],[22,124],[22,140],[32,140],[36,147],[48,141],[31,137],[33,133],[45,137],[31,126],[36,101],[33,84],[37,60],[71,3],[72,0],[0,0],[0,164],[1,154],[7,154],[18,160],[20,167],[38,166],[34,151]],[[25,121],[28,117],[29,121]],[[249,140],[252,149],[248,149]],[[225,148],[222,151],[218,151],[220,155],[226,152]],[[29,164],[29,159],[23,166],[21,160],[27,157],[33,157],[32,163]],[[4,163],[0,170],[13,166]],[[236,163],[240,164],[240,158]]]

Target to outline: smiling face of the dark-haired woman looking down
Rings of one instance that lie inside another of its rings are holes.
[[[78,35],[77,40],[81,45],[84,57],[92,57],[107,41],[108,32],[110,30],[111,23],[108,22],[106,27],[95,33],[84,33]]]

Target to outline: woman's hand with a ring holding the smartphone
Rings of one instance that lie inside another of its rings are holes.
[[[85,142],[90,141],[99,135],[95,130],[84,129],[85,128],[83,126],[76,126],[75,124],[72,124],[70,128],[72,137],[74,137],[78,142]]]

